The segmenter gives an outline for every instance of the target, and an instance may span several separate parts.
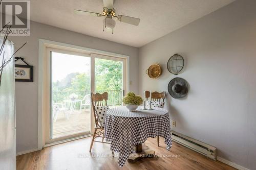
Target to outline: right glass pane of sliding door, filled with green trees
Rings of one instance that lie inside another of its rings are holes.
[[[123,99],[123,61],[95,58],[95,91],[108,92],[108,106],[121,106]]]

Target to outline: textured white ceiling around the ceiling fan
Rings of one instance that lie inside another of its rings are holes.
[[[73,9],[102,12],[102,0],[32,0],[31,20],[74,32],[140,47],[234,0],[115,0],[117,14],[140,18],[139,26],[116,21],[114,34],[102,32],[103,17],[81,16]]]

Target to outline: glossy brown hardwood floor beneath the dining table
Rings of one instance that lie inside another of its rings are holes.
[[[163,138],[160,147],[157,139],[150,138],[145,144],[156,151],[157,157],[144,158],[136,163],[125,162],[120,168],[118,156],[112,157],[110,145],[94,142],[89,152],[92,137],[66,142],[41,151],[17,156],[17,170],[20,169],[235,169],[219,161],[211,160],[197,152],[173,142],[171,151],[165,149]]]

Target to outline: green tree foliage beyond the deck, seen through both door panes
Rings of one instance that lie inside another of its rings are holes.
[[[96,91],[117,90],[112,98],[120,99],[122,90],[122,62],[95,59]],[[90,93],[90,74],[72,72],[60,81],[53,82],[53,100],[61,102],[68,99],[72,91],[76,91],[79,99]],[[60,92],[61,91],[61,92]]]

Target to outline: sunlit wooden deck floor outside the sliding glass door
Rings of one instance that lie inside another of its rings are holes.
[[[69,119],[65,113],[70,113]],[[59,112],[56,122],[53,122],[53,138],[68,136],[81,132],[90,132],[91,120],[90,110],[74,110],[66,111],[65,113]]]

